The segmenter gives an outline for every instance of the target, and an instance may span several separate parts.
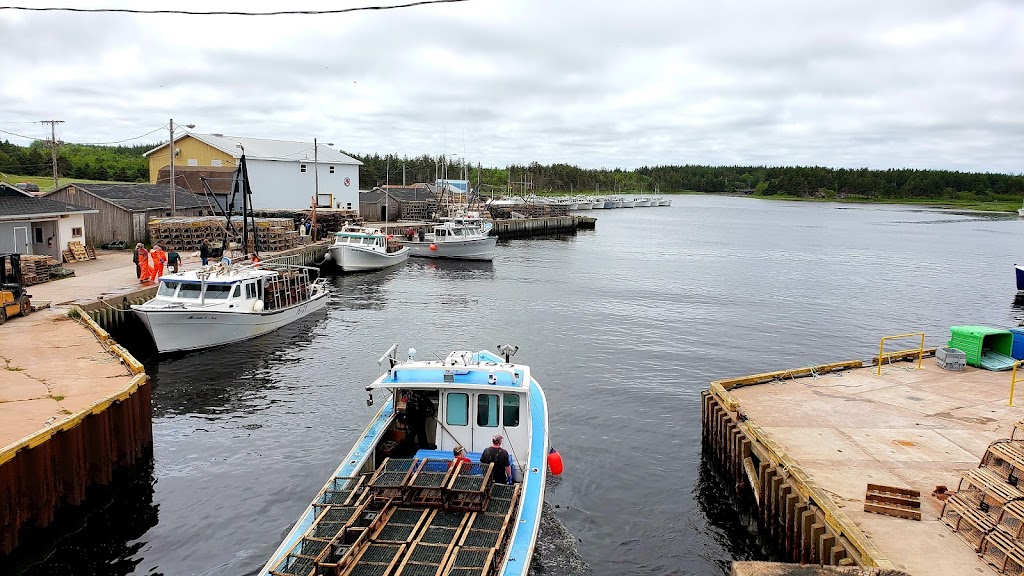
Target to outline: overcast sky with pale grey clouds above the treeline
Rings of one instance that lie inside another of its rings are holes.
[[[194,10],[388,2],[179,0]],[[82,0],[8,4],[156,7]],[[0,130],[176,123],[587,167],[1024,172],[1024,2],[470,0],[341,15],[0,10]],[[0,134],[18,143],[27,140]],[[156,132],[136,142],[166,141]]]

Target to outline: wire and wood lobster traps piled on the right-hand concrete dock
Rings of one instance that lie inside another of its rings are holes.
[[[964,475],[940,520],[999,574],[1024,573],[1024,420]]]

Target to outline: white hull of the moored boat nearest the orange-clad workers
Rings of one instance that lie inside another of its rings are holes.
[[[133,305],[161,354],[241,342],[272,332],[327,306],[327,292],[287,308],[254,313]]]

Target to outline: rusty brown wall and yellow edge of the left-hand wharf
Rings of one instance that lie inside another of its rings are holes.
[[[23,527],[46,527],[60,506],[80,504],[90,487],[109,484],[115,470],[136,462],[153,445],[150,378],[142,364],[81,308],[72,310],[133,376],[122,389],[0,448],[0,554],[17,546]]]

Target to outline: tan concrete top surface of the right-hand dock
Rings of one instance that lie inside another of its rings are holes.
[[[951,372],[925,359],[732,387],[738,421],[756,424],[884,558],[910,574],[988,573],[939,518],[936,486],[957,490],[993,441],[1024,416],[1007,405],[1011,373]],[[921,492],[920,522],[864,511],[867,484]],[[962,536],[963,537],[963,536]],[[799,544],[798,544],[799,548]]]

